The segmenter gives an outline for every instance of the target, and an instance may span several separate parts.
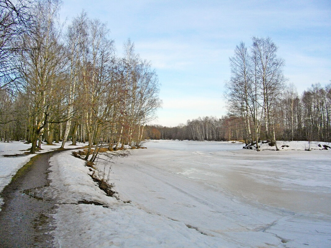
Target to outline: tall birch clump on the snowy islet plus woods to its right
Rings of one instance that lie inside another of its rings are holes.
[[[230,58],[227,109],[240,117],[246,144],[259,149],[261,139],[270,140],[278,150],[276,139],[330,141],[331,85],[312,85],[299,98],[285,84],[284,61],[276,53],[270,38],[253,37],[251,47],[241,42]]]

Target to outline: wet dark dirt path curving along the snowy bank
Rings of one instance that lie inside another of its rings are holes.
[[[56,200],[47,197],[49,158],[57,152],[38,154],[24,165],[1,192],[0,247],[53,247],[52,217]]]

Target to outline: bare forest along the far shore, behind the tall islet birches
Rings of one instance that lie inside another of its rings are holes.
[[[264,117],[263,113],[260,113],[261,115]],[[331,84],[325,87],[313,84],[301,96],[293,84],[284,86],[275,100],[272,117],[275,140],[331,142]],[[230,112],[221,118],[206,116],[188,120],[186,125],[180,124],[176,127],[146,126],[145,138],[196,141],[237,140],[245,142],[246,145],[253,145],[255,142],[252,142],[247,132],[247,123],[247,118],[242,113]],[[254,122],[249,119],[249,123],[251,130],[254,130]],[[267,140],[267,124],[264,118],[260,117],[258,127],[258,141]]]

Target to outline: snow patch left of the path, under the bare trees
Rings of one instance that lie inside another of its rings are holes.
[[[77,146],[71,146],[71,143],[68,142],[65,145],[65,148],[75,148],[83,146],[83,143],[77,143]],[[61,144],[56,145],[41,145],[41,152],[47,152],[55,148],[60,148]],[[14,155],[14,154],[24,154],[26,149],[31,148],[31,144],[24,144],[24,142],[13,141],[13,142],[0,142],[0,192],[2,189],[8,185],[12,177],[16,172],[26,164],[31,157],[36,154],[24,155],[24,156],[15,156],[15,157],[4,157],[3,155]],[[0,207],[2,205],[2,198],[0,197]],[[1,210],[1,208],[0,208]]]

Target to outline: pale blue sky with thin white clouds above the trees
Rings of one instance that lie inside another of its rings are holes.
[[[331,80],[331,1],[63,0],[62,21],[85,10],[108,23],[117,53],[130,38],[159,76],[162,108],[151,124],[177,126],[227,113],[229,57],[241,42],[270,37],[288,83],[301,94]]]

